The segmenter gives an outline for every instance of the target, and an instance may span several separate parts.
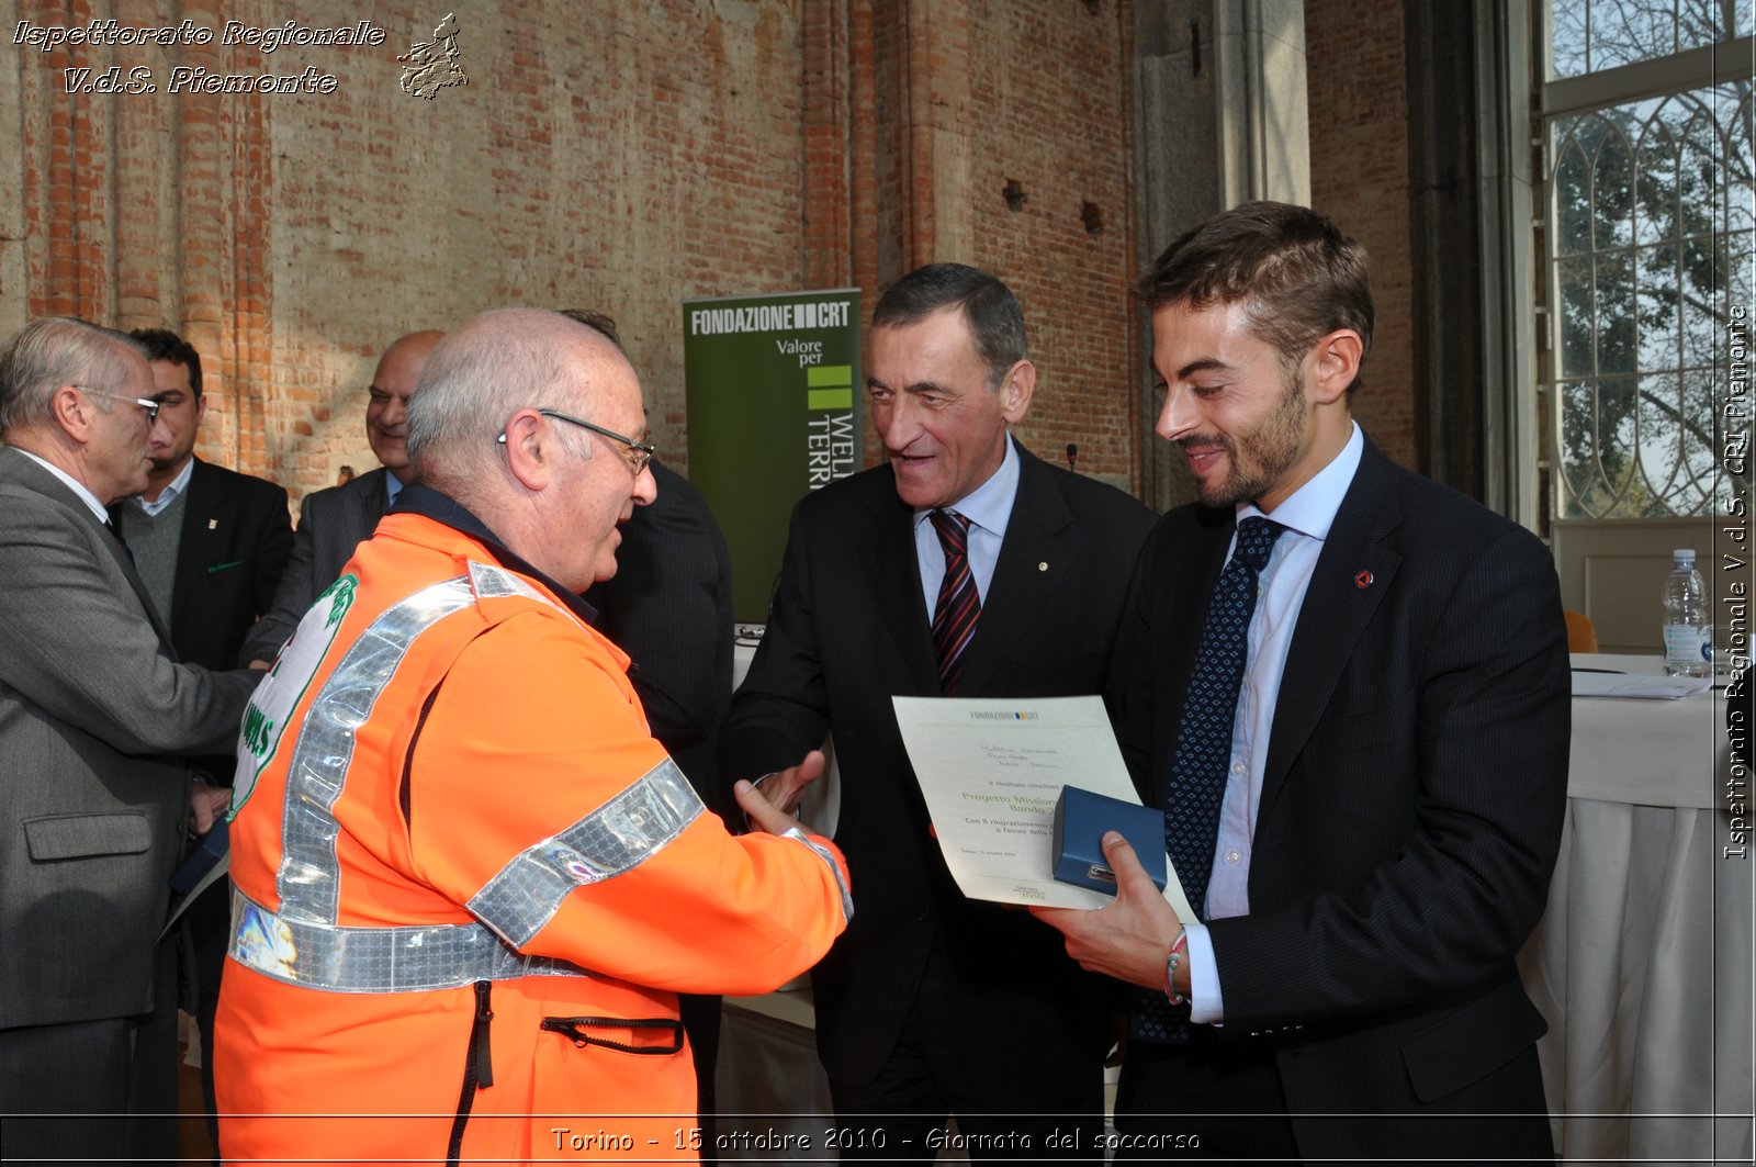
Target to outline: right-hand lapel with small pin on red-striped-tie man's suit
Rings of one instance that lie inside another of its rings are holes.
[[[1071,524],[1073,511],[1055,489],[1054,476],[1018,446],[1018,492],[1006,520],[1006,538],[999,545],[976,633],[964,649],[964,677],[959,684],[964,696],[982,696],[996,684],[999,663],[1008,659],[1018,636],[1033,627],[1071,568],[1066,547]]]

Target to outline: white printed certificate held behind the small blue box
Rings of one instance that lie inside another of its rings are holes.
[[[1055,798],[1080,786],[1138,803],[1103,701],[890,698],[939,851],[971,900],[1105,907],[1115,896],[1057,882]],[[1166,859],[1164,898],[1194,919]]]

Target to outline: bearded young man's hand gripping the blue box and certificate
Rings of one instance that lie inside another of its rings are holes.
[[[1177,912],[1119,831],[1105,833],[1103,854],[1115,872],[1113,903],[1096,910],[1033,907],[1031,916],[1068,937],[1068,956],[1080,967],[1162,989],[1164,958],[1182,926]]]

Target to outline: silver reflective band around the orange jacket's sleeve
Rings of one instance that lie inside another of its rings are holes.
[[[469,912],[507,944],[529,944],[569,891],[639,866],[702,810],[688,779],[666,757],[565,831],[515,856],[471,896]]]

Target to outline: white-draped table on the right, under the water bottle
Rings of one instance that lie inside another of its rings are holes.
[[[1724,742],[1717,691],[1573,699],[1561,856],[1519,960],[1563,1158],[1751,1160],[1756,847],[1726,851]]]

